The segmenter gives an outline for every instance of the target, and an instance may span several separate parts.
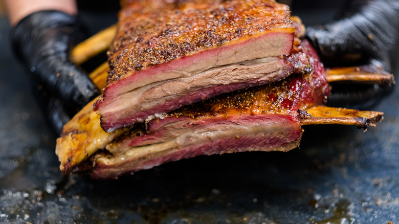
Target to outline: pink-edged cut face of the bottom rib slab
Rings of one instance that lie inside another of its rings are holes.
[[[207,127],[184,131],[165,142],[128,147],[129,150],[116,155],[100,153],[95,157],[96,166],[91,176],[96,179],[115,178],[198,155],[253,150],[288,151],[299,145],[301,136],[301,127],[289,116],[220,120]]]

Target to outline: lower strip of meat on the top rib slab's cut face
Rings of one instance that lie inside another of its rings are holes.
[[[269,57],[212,68],[197,75],[151,83],[121,94],[99,110],[107,132],[148,116],[251,86],[284,79],[294,71],[285,58]]]

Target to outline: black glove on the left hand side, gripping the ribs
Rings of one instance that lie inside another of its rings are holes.
[[[76,16],[38,11],[12,28],[14,52],[31,74],[37,96],[50,125],[62,126],[99,92],[86,73],[69,59],[72,47],[83,40]]]

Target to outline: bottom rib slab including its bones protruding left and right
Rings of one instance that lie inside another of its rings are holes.
[[[379,112],[320,106],[329,94],[323,66],[307,41],[295,41],[293,51],[308,56],[312,72],[154,115],[130,129],[104,132],[88,104],[57,139],[62,173],[104,179],[197,155],[287,151],[299,145],[301,125],[367,128],[382,119]]]

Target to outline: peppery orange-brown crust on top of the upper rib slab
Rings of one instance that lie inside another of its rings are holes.
[[[173,2],[173,1],[168,1]],[[125,1],[108,51],[108,84],[275,28],[295,28],[289,7],[261,0]]]

